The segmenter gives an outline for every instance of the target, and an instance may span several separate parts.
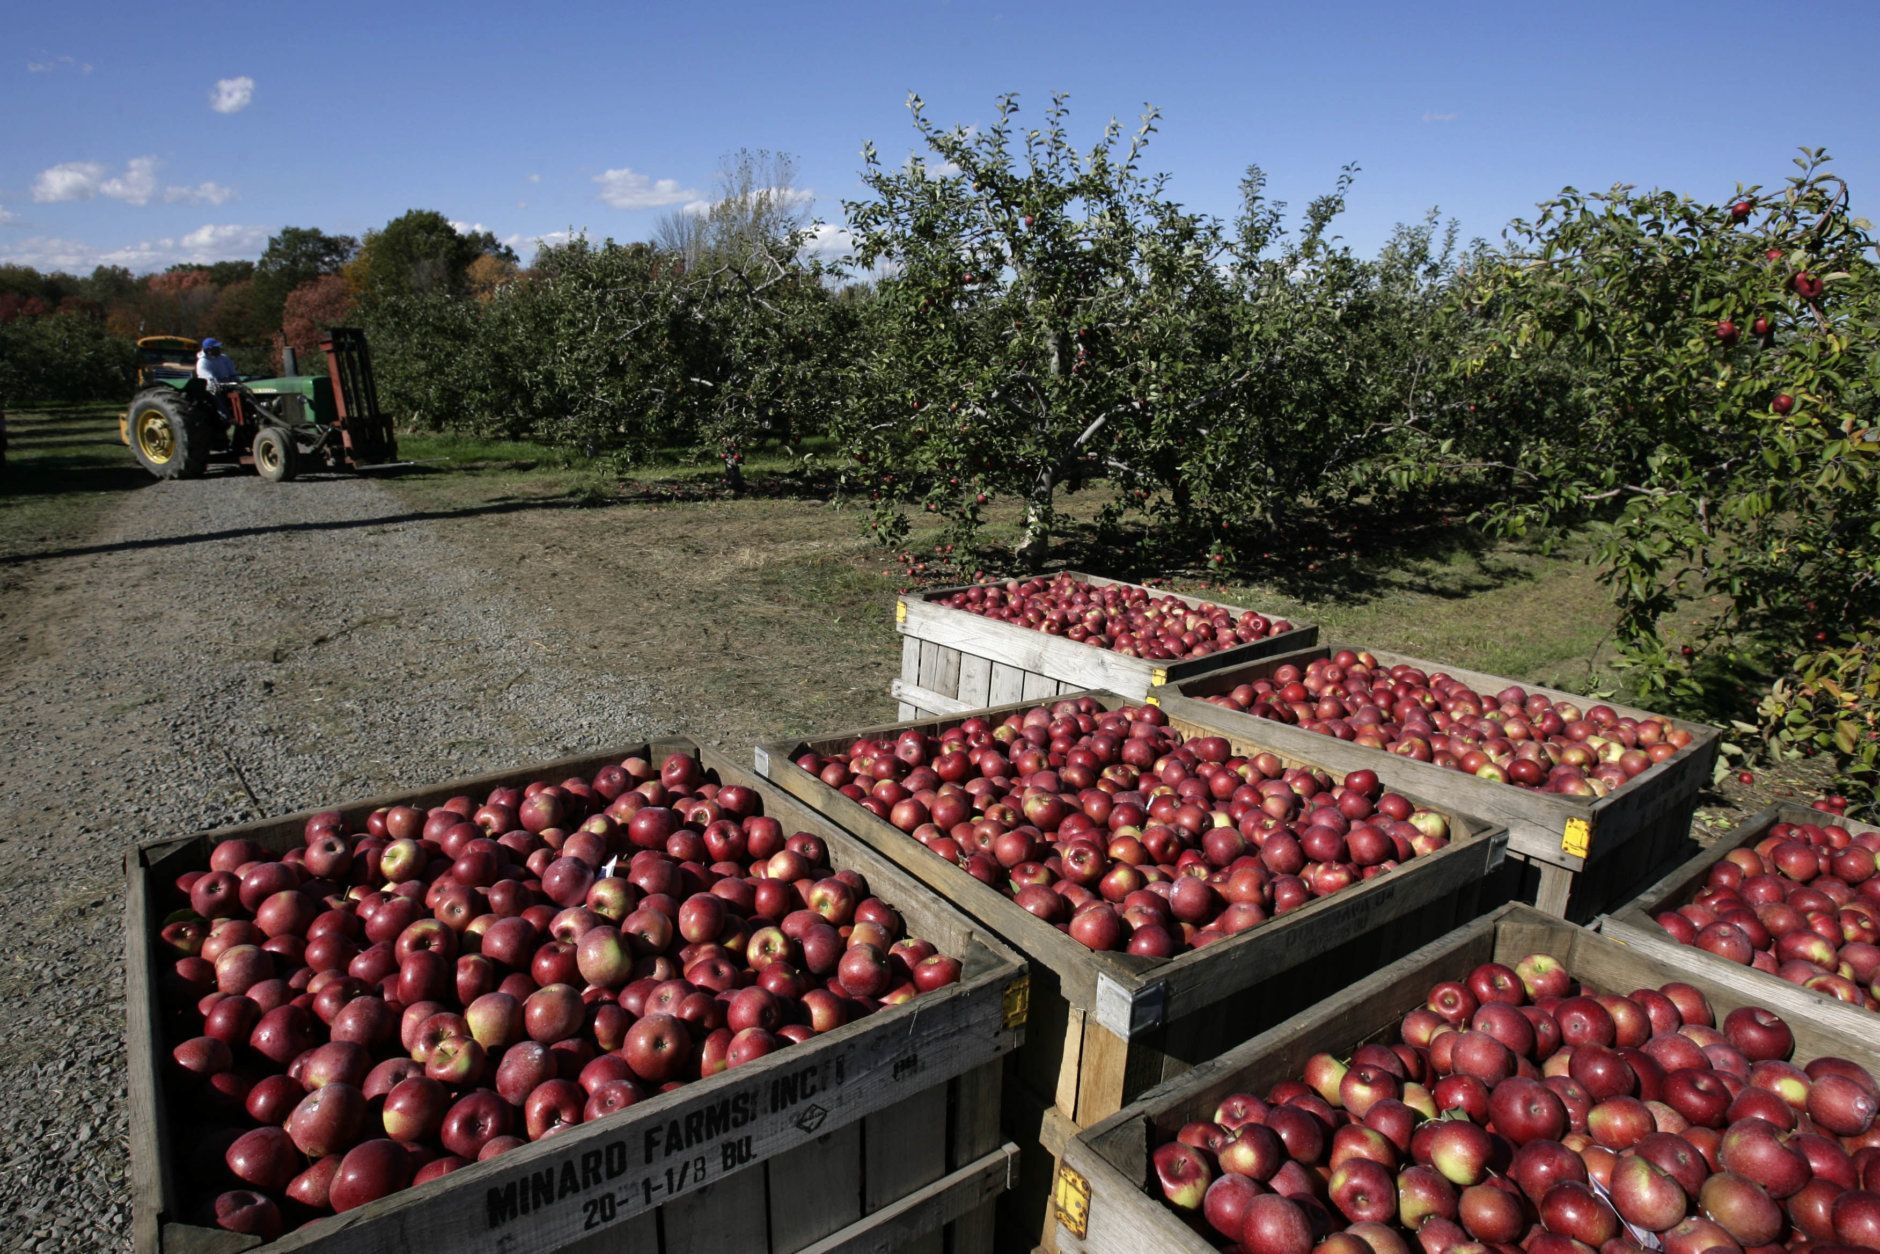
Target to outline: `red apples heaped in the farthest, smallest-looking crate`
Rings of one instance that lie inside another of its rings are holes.
[[[1254,611],[1235,617],[1226,605],[1190,605],[1179,596],[1094,585],[1070,575],[979,585],[940,603],[1094,649],[1115,649],[1126,658],[1158,662],[1203,658],[1293,630],[1286,619]]]

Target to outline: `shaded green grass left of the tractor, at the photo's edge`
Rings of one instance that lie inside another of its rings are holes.
[[[0,556],[79,540],[124,493],[152,483],[118,444],[118,404],[9,410]]]

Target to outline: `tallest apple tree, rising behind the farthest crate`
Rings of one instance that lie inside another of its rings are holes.
[[[835,434],[884,540],[917,506],[970,545],[1008,496],[1025,509],[1017,556],[1036,566],[1060,489],[1160,481],[1154,415],[1194,406],[1218,370],[1226,239],[1145,171],[1154,109],[1079,149],[1064,96],[1038,128],[1021,128],[1015,96],[983,128],[908,107],[923,150],[887,164],[867,145],[869,196],[846,203],[874,293]]]

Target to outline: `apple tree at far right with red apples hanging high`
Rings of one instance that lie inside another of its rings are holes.
[[[1825,152],[1720,205],[1568,188],[1465,301],[1478,393],[1564,391],[1545,421],[1470,415],[1468,453],[1433,415],[1408,462],[1498,476],[1504,532],[1590,523],[1641,694],[1747,713],[1737,677],[1786,673],[1777,739],[1846,758],[1871,729],[1797,694],[1880,619],[1880,263]]]

